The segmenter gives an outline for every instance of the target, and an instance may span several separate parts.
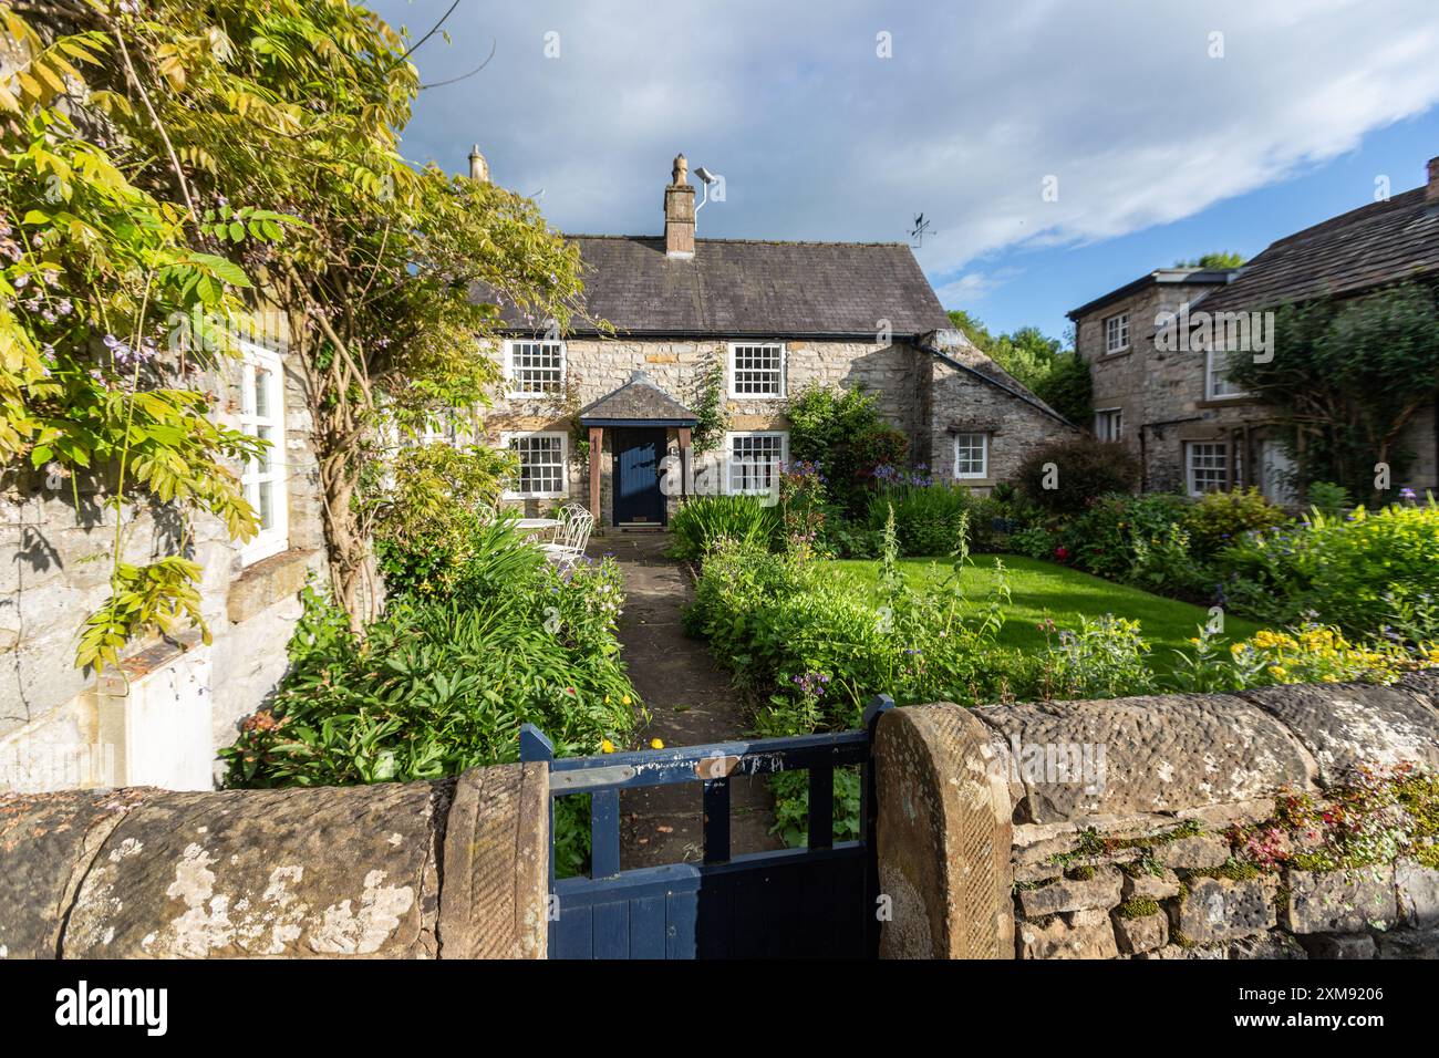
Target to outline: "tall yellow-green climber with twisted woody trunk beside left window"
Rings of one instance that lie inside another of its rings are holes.
[[[271,223],[298,219],[282,248],[246,240],[224,250],[286,320],[314,423],[335,597],[358,628],[361,597],[376,594],[361,590],[373,507],[361,482],[383,456],[377,438],[387,426],[417,433],[486,400],[498,370],[485,343],[502,308],[567,327],[577,250],[530,200],[400,157],[420,91],[412,49],[348,0],[0,6],[35,13],[49,36],[104,42],[108,59],[86,71],[86,104],[104,108],[108,135],[134,145],[128,178],[189,225],[191,242],[248,235],[245,219],[224,213],[235,203],[275,210]],[[207,289],[235,279],[239,269],[216,272]],[[485,301],[472,301],[476,289]]]

